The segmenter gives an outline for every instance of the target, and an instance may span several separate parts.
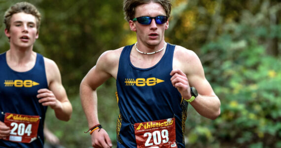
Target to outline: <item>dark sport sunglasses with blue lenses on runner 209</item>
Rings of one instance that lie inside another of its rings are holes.
[[[134,18],[133,21],[138,21],[142,25],[149,25],[152,19],[155,20],[156,24],[164,24],[167,22],[168,17],[162,15],[156,17],[141,16],[141,17]]]

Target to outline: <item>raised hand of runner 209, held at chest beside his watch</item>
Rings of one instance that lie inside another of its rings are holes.
[[[172,75],[171,82],[173,86],[176,87],[181,97],[184,99],[190,99],[190,86],[186,74],[179,69],[175,69],[170,73],[170,75]]]

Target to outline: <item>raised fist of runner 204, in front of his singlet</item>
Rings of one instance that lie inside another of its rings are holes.
[[[52,109],[62,109],[62,103],[57,100],[54,93],[49,89],[43,88],[38,90],[37,98],[43,106],[50,106]]]

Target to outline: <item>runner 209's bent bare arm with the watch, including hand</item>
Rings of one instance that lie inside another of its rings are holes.
[[[205,77],[200,59],[190,50],[184,49],[178,53],[176,57],[179,57],[179,62],[177,63],[181,66],[171,72],[172,84],[178,89],[181,96],[187,100],[191,98],[190,87],[195,87],[198,91],[198,96],[190,104],[202,116],[210,119],[217,118],[220,114],[220,101]]]

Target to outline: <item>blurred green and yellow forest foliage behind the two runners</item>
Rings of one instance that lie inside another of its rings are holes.
[[[0,16],[15,2],[0,0]],[[66,148],[89,148],[91,139],[79,84],[98,57],[136,42],[122,0],[26,0],[42,14],[35,51],[59,66],[73,106],[64,122],[49,109],[46,123]],[[0,24],[0,52],[9,49]],[[187,148],[281,148],[281,1],[173,0],[165,40],[195,51],[221,101],[210,120],[188,108]],[[98,89],[99,119],[116,147],[119,112],[115,80]]]

